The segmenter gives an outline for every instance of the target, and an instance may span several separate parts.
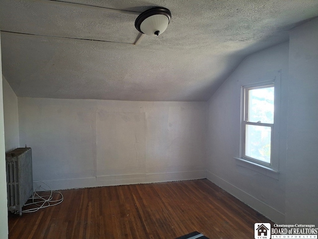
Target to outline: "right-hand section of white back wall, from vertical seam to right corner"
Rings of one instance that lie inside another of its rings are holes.
[[[147,172],[205,170],[206,103],[146,104]]]

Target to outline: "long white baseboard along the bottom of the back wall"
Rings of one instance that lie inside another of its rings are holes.
[[[122,175],[101,175],[88,178],[58,179],[58,180],[39,180],[51,187],[52,190],[64,190],[74,188],[90,188],[114,185],[142,184],[171,182],[192,179],[206,178],[206,170],[168,172],[168,173],[140,173]],[[34,188],[38,188],[41,183],[34,182]],[[46,187],[45,185],[43,186]]]

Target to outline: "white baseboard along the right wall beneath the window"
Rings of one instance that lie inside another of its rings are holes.
[[[271,206],[265,204],[264,202],[258,200],[257,198],[242,191],[238,187],[225,181],[224,179],[211,173],[210,171],[207,171],[206,175],[207,175],[207,179],[210,180],[212,183],[218,185],[220,188],[232,194],[234,197],[238,198],[240,201],[247,204],[248,206],[250,206],[257,212],[263,214],[265,217],[269,218],[273,222],[278,224],[285,223],[285,214],[283,214],[282,212],[277,211]],[[255,223],[261,223],[261,222],[255,222]]]

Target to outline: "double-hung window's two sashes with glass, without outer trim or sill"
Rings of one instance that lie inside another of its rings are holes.
[[[274,84],[242,87],[241,158],[273,164]]]

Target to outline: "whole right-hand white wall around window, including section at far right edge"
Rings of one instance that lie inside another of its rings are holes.
[[[245,58],[208,102],[207,177],[276,223],[318,225],[317,39],[318,18],[293,29],[289,43]],[[274,179],[233,157],[239,156],[240,85],[279,69],[280,174]]]

